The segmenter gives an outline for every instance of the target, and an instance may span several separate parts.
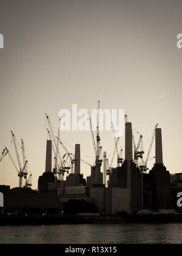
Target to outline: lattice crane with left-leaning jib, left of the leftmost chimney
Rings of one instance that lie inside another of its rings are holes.
[[[18,152],[18,146],[16,144],[16,138],[15,138],[15,134],[13,133],[13,131],[11,131],[12,133],[12,139],[13,139],[13,144],[14,144],[14,147],[15,147],[15,152],[16,152],[16,158],[18,160],[18,166],[19,166],[19,171],[18,171],[18,177],[19,177],[19,188],[22,188],[22,179],[23,177],[26,179],[27,177],[27,172],[25,171],[25,168],[27,166],[27,163],[28,161],[25,160],[25,163],[24,163],[24,167],[22,168],[22,165],[21,165],[21,160],[20,160],[20,157],[19,157],[19,152]],[[11,158],[11,157],[10,157]],[[12,160],[13,158],[11,158]],[[13,163],[14,165],[14,163]],[[15,165],[14,165],[15,166]],[[16,169],[17,170],[17,169]]]

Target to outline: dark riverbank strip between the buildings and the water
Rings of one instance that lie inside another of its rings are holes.
[[[116,224],[116,223],[168,223],[182,222],[182,215],[149,216],[70,216],[70,215],[4,215],[0,226],[55,225],[55,224]]]

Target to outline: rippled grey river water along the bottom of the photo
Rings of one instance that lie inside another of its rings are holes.
[[[182,243],[182,223],[0,226],[0,244]]]

